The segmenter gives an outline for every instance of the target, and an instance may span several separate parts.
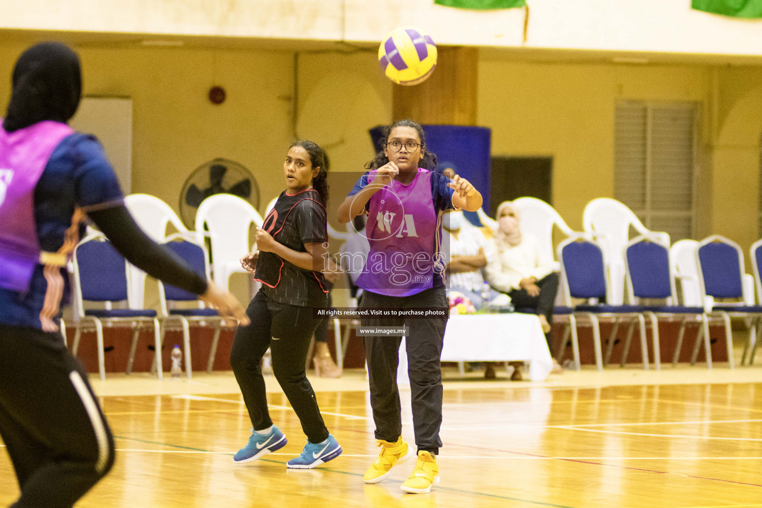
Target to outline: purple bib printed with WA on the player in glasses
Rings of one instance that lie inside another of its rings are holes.
[[[369,177],[375,173],[370,171]],[[438,259],[441,214],[434,209],[431,171],[418,168],[408,185],[393,180],[369,204],[365,232],[370,252],[357,286],[386,296],[430,289],[434,270],[443,269]]]

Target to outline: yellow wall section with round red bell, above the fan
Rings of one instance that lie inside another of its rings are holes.
[[[23,48],[0,46],[0,103]],[[79,50],[84,93],[133,99],[133,192],[178,208],[182,185],[216,157],[240,162],[257,178],[260,212],[283,190],[273,179],[291,140],[292,54],[279,51]],[[207,99],[223,85],[227,100]]]

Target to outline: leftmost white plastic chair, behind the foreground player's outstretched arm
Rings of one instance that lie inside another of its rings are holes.
[[[135,222],[153,241],[162,241],[167,235],[167,225],[171,224],[178,232],[187,232],[187,228],[174,210],[156,196],[150,194],[130,194],[124,198],[124,206],[130,210]],[[130,264],[130,308],[142,308],[146,289],[146,272]]]

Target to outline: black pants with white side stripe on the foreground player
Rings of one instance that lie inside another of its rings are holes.
[[[70,508],[114,464],[87,372],[57,333],[0,324],[0,435],[21,488],[12,508]]]

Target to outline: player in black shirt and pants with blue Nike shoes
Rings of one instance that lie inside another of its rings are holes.
[[[305,369],[312,334],[322,321],[312,317],[312,307],[328,305],[321,273],[328,245],[325,166],[325,152],[315,143],[291,145],[283,162],[286,190],[264,219],[264,227],[257,228],[258,251],[241,260],[262,287],[246,310],[251,324],[235,332],[230,353],[253,427],[247,445],[233,457],[238,463],[256,460],[287,443],[267,411],[260,361],[268,347],[275,379],[307,435],[302,455],[287,467],[314,468],[341,455],[341,446],[325,427]]]

